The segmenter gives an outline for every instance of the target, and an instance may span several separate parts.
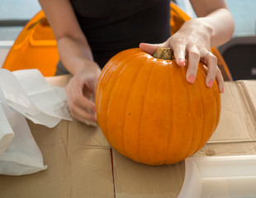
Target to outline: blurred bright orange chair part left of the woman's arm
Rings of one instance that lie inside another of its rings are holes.
[[[44,12],[40,11],[18,35],[2,68],[10,71],[38,68],[47,77],[55,75],[58,61],[55,35]]]

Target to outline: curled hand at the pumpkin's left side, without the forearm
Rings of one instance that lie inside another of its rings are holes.
[[[95,125],[97,122],[94,93],[100,73],[98,65],[90,62],[90,65],[74,74],[65,87],[72,117],[88,125]]]

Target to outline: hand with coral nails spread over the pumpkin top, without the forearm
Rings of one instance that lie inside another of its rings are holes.
[[[211,51],[211,33],[211,27],[207,26],[201,18],[192,19],[186,21],[179,31],[164,43],[159,45],[141,43],[140,49],[154,54],[159,47],[171,48],[179,66],[185,66],[185,58],[188,58],[186,78],[190,83],[195,82],[198,63],[200,60],[203,61],[208,65],[206,86],[211,87],[216,79],[220,92],[224,92],[224,80],[217,66],[216,56],[207,53]]]

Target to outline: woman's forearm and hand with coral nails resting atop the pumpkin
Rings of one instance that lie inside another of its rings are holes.
[[[198,62],[204,61],[208,65],[206,86],[211,87],[216,79],[220,92],[224,92],[224,80],[217,66],[217,59],[213,54],[207,54],[211,47],[224,44],[233,35],[235,24],[223,0],[191,0],[197,18],[186,21],[173,36],[159,45],[140,44],[140,49],[149,54],[159,47],[170,47],[176,62],[185,65],[188,57],[186,73],[187,82],[195,82]]]

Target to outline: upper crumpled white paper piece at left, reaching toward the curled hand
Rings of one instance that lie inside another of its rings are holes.
[[[36,124],[55,127],[72,120],[63,87],[51,87],[37,69],[0,69],[0,87],[8,106]]]

